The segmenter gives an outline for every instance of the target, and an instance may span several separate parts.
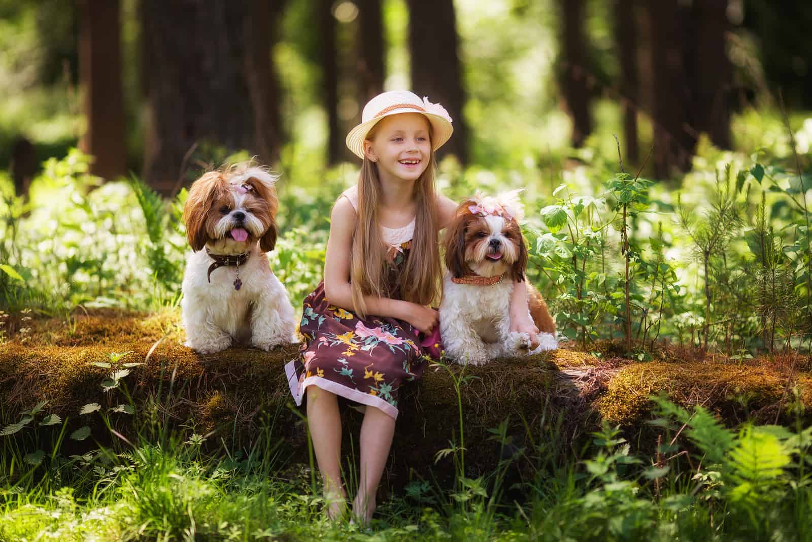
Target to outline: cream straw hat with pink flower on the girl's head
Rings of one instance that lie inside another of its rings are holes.
[[[408,90],[391,90],[378,94],[364,106],[361,124],[347,134],[347,147],[356,157],[364,159],[364,140],[369,131],[384,117],[398,113],[421,113],[431,123],[432,146],[436,151],[451,137],[454,127],[443,105],[433,104],[428,98],[422,100]]]

